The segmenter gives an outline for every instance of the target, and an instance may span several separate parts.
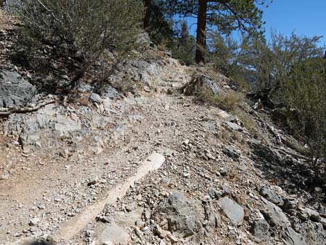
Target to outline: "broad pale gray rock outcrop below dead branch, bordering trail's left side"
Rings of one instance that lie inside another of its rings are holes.
[[[103,136],[91,133],[96,128],[105,128],[111,120],[86,106],[74,109],[53,103],[37,112],[10,115],[3,130],[6,135],[19,137],[24,149],[34,151],[53,152],[53,147],[58,147],[58,137],[69,138],[73,142],[71,147],[75,148],[81,139],[89,136],[89,151],[95,152],[103,146]]]

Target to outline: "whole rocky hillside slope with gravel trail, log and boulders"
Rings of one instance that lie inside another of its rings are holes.
[[[1,245],[326,244],[300,143],[250,101],[198,101],[228,78],[148,47],[110,84],[44,93],[10,61],[14,24],[0,16]]]

